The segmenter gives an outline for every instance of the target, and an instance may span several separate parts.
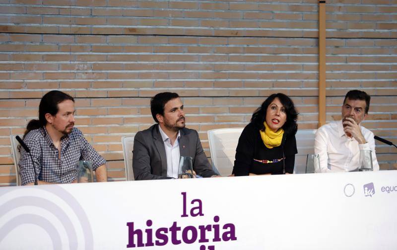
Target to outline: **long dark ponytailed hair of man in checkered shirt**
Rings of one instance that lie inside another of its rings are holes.
[[[71,100],[74,102],[73,97],[70,95],[59,91],[59,90],[52,90],[45,94],[40,101],[39,105],[39,120],[31,120],[28,125],[26,126],[26,131],[23,135],[25,135],[33,129],[37,129],[40,127],[43,127],[47,125],[47,119],[46,119],[46,114],[49,113],[52,116],[57,115],[59,109],[58,109],[58,104],[65,101],[65,100]]]

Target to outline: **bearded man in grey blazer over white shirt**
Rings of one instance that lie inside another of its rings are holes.
[[[134,137],[132,168],[135,180],[178,178],[180,156],[191,156],[193,170],[202,177],[218,177],[212,171],[199,133],[185,127],[183,104],[177,93],[163,92],[150,100],[156,125]]]

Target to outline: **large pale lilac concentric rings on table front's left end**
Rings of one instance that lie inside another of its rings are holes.
[[[9,192],[5,189],[0,191],[0,217],[7,214],[9,211],[16,210],[20,212],[20,214],[17,214],[16,216],[12,215],[13,217],[9,215],[6,219],[1,218],[0,243],[15,228],[25,224],[33,224],[47,232],[52,240],[52,249],[63,249],[62,242],[64,240],[69,243],[67,249],[76,250],[83,248],[86,250],[93,250],[94,241],[92,227],[84,208],[71,193],[63,187],[60,187],[60,185],[51,185],[51,188],[46,186],[48,185],[29,187],[31,188],[30,194],[20,192],[19,190],[22,190],[23,187],[15,188],[13,190],[15,194],[10,196],[12,198],[4,202],[1,199],[1,196],[8,194]],[[59,197],[60,200],[62,200],[61,203],[47,198],[47,192]],[[57,220],[52,219],[52,217],[49,218],[42,214],[35,214],[27,208],[18,209],[27,206],[41,208],[45,210],[45,213],[48,212],[55,216],[56,219],[62,223],[66,235],[63,235],[58,231],[56,226]],[[74,216],[71,216],[70,210],[74,213],[77,220],[74,219]],[[78,228],[83,229],[83,235],[80,238],[77,237]],[[82,239],[83,241],[79,242],[79,239]],[[80,245],[81,247],[79,247]],[[40,246],[39,241],[37,246]]]

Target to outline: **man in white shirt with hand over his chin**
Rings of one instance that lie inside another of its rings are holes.
[[[320,156],[316,173],[357,171],[360,150],[372,151],[374,171],[379,170],[375,154],[374,134],[361,125],[368,116],[371,97],[360,90],[347,92],[342,106],[342,120],[321,126],[314,143]]]

